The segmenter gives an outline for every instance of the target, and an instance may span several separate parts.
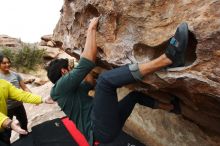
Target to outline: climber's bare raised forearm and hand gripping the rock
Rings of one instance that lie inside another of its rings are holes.
[[[89,28],[87,30],[85,48],[81,54],[81,57],[87,58],[93,62],[96,60],[97,45],[96,45],[96,29],[99,17],[91,19]]]

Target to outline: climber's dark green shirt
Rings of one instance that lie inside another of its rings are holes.
[[[75,122],[90,145],[93,141],[90,113],[92,97],[88,96],[92,86],[83,81],[95,67],[92,61],[81,58],[79,64],[68,74],[62,76],[51,90],[51,97],[57,101],[65,114]]]

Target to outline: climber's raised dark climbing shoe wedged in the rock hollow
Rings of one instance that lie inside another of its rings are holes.
[[[180,67],[185,65],[185,51],[188,45],[188,25],[182,23],[177,28],[175,35],[171,38],[165,54],[172,61],[169,66]]]

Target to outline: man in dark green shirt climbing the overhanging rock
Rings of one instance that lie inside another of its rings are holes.
[[[56,59],[47,68],[47,75],[54,86],[51,97],[57,101],[65,114],[74,121],[90,145],[93,142],[113,141],[124,126],[134,105],[139,103],[151,108],[172,109],[172,105],[159,103],[143,93],[133,91],[118,102],[116,89],[141,81],[145,75],[164,67],[179,67],[185,63],[184,55],[188,43],[188,26],[181,24],[172,37],[165,54],[143,64],[130,64],[99,75],[97,84],[89,74],[96,66],[96,28],[98,18],[90,22],[85,49],[78,65],[70,70],[68,61]],[[95,97],[88,96],[95,86]]]

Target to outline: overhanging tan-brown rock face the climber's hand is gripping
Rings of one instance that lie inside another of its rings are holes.
[[[219,7],[219,0],[65,0],[53,40],[75,56],[84,47],[89,19],[101,16],[98,56],[121,66],[158,57],[176,27],[187,22],[187,66],[159,71],[136,88],[178,96],[185,117],[220,133]]]

